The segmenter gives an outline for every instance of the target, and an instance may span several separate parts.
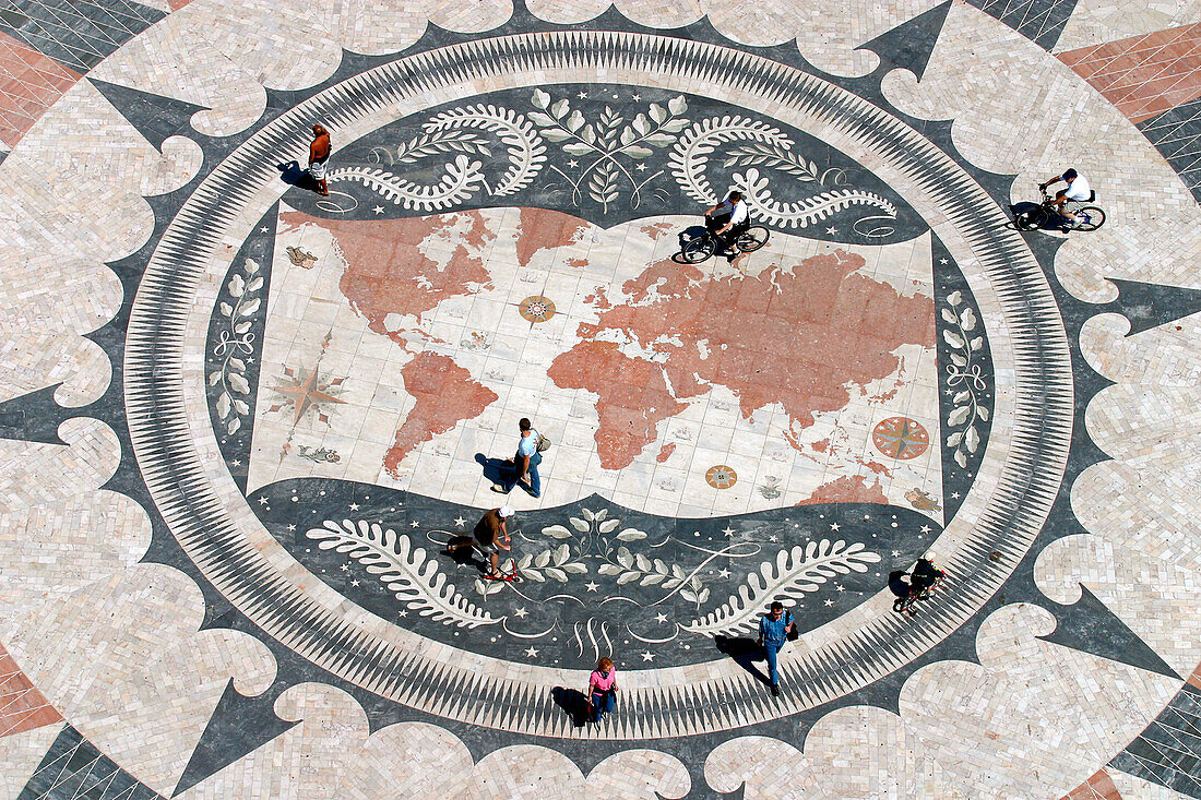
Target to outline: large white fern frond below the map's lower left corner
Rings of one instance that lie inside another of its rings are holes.
[[[307,537],[322,550],[335,550],[362,563],[396,592],[396,598],[410,610],[444,625],[467,628],[503,620],[460,595],[438,571],[437,560],[429,559],[423,548],[413,548],[407,536],[364,520],[358,524],[348,519],[341,524],[325,520],[323,526],[311,529]]]

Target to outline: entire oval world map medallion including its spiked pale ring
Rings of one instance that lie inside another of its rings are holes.
[[[587,83],[596,59],[633,58],[655,85]],[[707,97],[670,88],[699,76]],[[764,76],[771,102],[747,100]],[[343,120],[328,199],[285,193],[271,167],[312,119]],[[707,271],[671,261],[729,187],[788,257]],[[924,215],[962,232],[944,241]],[[626,673],[627,703],[653,697],[657,712],[604,735],[767,720],[920,655],[1041,525],[1054,492],[1024,492],[1057,479],[1051,450],[1068,437],[1042,431],[1070,422],[1070,402],[1027,398],[1070,398],[1042,386],[1071,374],[1044,363],[1069,351],[1012,346],[1010,330],[1034,341],[1062,324],[1041,311],[1052,303],[1000,291],[1045,288],[1003,220],[916,131],[759,56],[647,34],[602,47],[590,31],[416,53],[265,124],[168,226],[165,243],[190,244],[155,251],[131,315],[135,449],[204,578],[371,692],[568,735],[549,693],[504,675],[573,685],[621,652],[640,668]],[[926,271],[906,273],[913,263]],[[514,304],[540,324],[522,326]],[[985,332],[985,306],[1005,326]],[[955,392],[940,390],[951,377]],[[838,424],[879,408],[891,416],[874,430]],[[921,408],[939,410],[938,430],[913,420]],[[484,581],[452,545],[502,502],[490,486],[512,484],[522,416],[552,442],[540,497],[513,486],[528,502],[510,526],[522,580]],[[990,450],[994,419],[1039,447]],[[896,462],[865,458],[868,437]],[[985,466],[1012,491],[975,490]],[[706,491],[700,468],[730,491]],[[963,488],[954,505],[944,482]],[[990,506],[997,496],[1012,505]],[[928,635],[895,637],[873,603],[884,562],[944,532],[963,543],[939,557],[962,602],[909,622]],[[1005,556],[978,559],[992,551]],[[752,634],[772,598],[823,627],[806,659],[782,664],[807,692],[778,706],[713,649]],[[718,694],[737,715],[698,722],[689,709]]]

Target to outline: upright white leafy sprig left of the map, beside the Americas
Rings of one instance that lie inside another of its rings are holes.
[[[231,270],[226,292],[232,302],[222,300],[217,311],[225,318],[213,354],[221,359],[220,366],[209,374],[209,386],[219,387],[216,400],[217,418],[225,432],[233,435],[241,428],[243,418],[250,414],[250,381],[246,380],[246,356],[255,352],[255,314],[263,302],[258,297],[264,280],[258,275],[262,269],[253,258],[243,262],[241,271]]]

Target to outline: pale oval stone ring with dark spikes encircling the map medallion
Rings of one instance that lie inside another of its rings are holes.
[[[945,638],[1004,583],[1058,492],[1071,437],[1066,334],[1024,241],[945,153],[867,101],[755,55],[647,34],[566,31],[482,40],[402,58],[331,86],[250,137],[199,184],[147,267],[126,339],[127,419],[138,464],[173,536],[251,621],[313,664],[429,714],[570,736],[554,686],[572,670],[455,650],[353,605],[307,573],[253,515],[223,468],[203,389],[216,286],[280,195],[274,165],[321,119],[353,141],[422,108],[502,88],[605,79],[675,88],[775,117],[865,163],[933,227],[961,264],[992,339],[997,406],[978,478],[934,545],[950,577],[915,620],[868,599],[811,631],[781,663],[788,697],[728,659],[623,675],[623,714],[597,734],[656,739],[730,729],[819,705]],[[990,554],[999,553],[992,560]],[[573,683],[574,681],[574,683]]]

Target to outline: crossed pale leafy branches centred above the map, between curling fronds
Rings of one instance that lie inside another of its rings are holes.
[[[646,113],[638,113],[629,123],[610,106],[604,107],[594,123],[586,121],[579,109],[572,109],[570,101],[554,100],[542,89],[534,90],[531,102],[538,111],[532,112],[530,119],[542,129],[542,135],[560,142],[568,155],[586,160],[574,177],[551,167],[572,185],[572,202],[579,203],[581,190],[586,190],[607,213],[610,203],[621,196],[622,186],[629,187],[631,208],[638,208],[643,202],[643,187],[663,174],[659,169],[639,179],[623,159],[649,159],[656,148],[675,143],[680,131],[688,127],[688,120],[680,117],[688,111],[682,95],[669,100],[667,108],[651,103]],[[569,161],[568,168],[573,167],[580,167],[580,162]],[[633,168],[639,173],[647,171],[643,163]]]

